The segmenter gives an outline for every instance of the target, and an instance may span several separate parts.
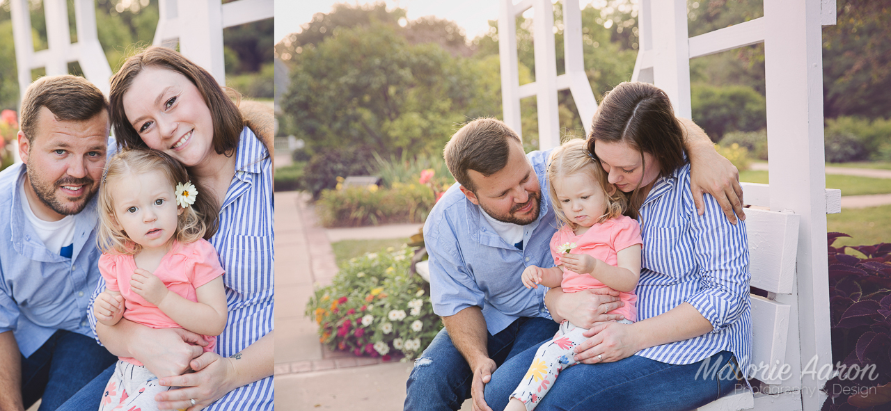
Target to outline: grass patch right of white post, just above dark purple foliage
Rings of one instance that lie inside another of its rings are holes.
[[[891,205],[870,208],[844,208],[840,214],[826,215],[830,231],[851,238],[838,238],[835,246],[871,246],[891,242]]]

